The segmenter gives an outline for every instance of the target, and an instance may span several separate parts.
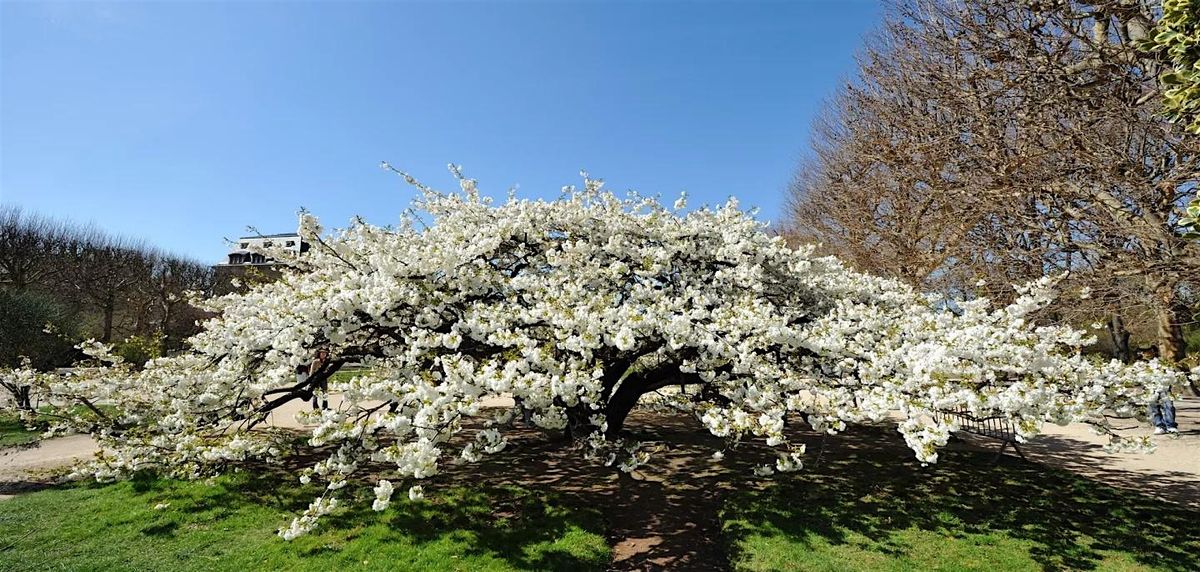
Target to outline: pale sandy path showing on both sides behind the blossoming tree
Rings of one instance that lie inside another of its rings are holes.
[[[506,407],[511,399],[493,399],[488,407]],[[336,396],[330,405],[337,407]],[[290,403],[271,414],[270,423],[277,427],[302,427],[295,414],[307,404]],[[1045,434],[1021,445],[1030,460],[1061,466],[1105,483],[1140,490],[1164,500],[1200,508],[1200,398],[1188,397],[1176,402],[1180,433],[1157,435],[1152,454],[1109,453],[1106,438],[1092,434],[1084,425],[1046,426]],[[1129,421],[1122,434],[1146,435],[1147,425]],[[998,442],[967,436],[971,446],[997,448]],[[36,446],[0,450],[0,500],[12,496],[46,475],[91,457],[96,445],[90,436],[70,435],[41,441]],[[1006,454],[1012,454],[1009,451]]]

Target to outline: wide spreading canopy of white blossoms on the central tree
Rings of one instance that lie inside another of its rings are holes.
[[[199,477],[278,459],[287,448],[264,429],[266,415],[311,397],[341,363],[365,363],[329,380],[343,399],[312,417],[310,442],[332,452],[301,475],[326,487],[281,531],[294,537],[371,462],[412,482],[436,475],[462,432],[473,439],[457,458],[503,452],[504,425],[482,408],[490,397],[514,397],[533,423],[586,438],[600,459],[632,470],[650,456],[618,433],[658,392],[731,444],[776,447],[778,460],[755,470],[763,476],[800,468],[787,430],[799,420],[834,433],[898,419],[917,457],[934,462],[953,430],[941,410],[1004,416],[1022,438],[1045,422],[1105,429],[1105,414],[1138,415],[1184,381],[1157,362],[1092,361],[1076,351],[1082,332],[1036,325],[1030,313],[1051,300],[1051,279],[1007,307],[974,300],[949,312],[788,247],[732,200],[683,212],[683,200],[672,210],[623,199],[586,177],[558,200],[493,204],[452,170],[462,193],[416,183],[414,215],[395,228],[355,222],[322,235],[302,213],[314,247],[292,261],[298,271],[210,301],[218,317],[191,353],[29,385],[46,403],[110,407],[64,423],[103,446],[92,475]],[[299,381],[296,367],[319,351],[324,369]],[[385,508],[392,483],[374,492]]]

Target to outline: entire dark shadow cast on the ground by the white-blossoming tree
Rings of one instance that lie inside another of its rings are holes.
[[[424,481],[427,501],[409,502],[401,489],[391,508],[371,511],[370,481],[390,474],[386,466],[367,468],[360,487],[343,490],[352,498],[319,530],[346,541],[367,534],[365,528],[382,535],[382,542],[455,541],[470,554],[526,570],[727,570],[749,534],[781,535],[799,546],[817,540],[845,544],[860,535],[872,549],[901,556],[907,547],[895,534],[907,529],[1024,540],[1046,570],[1094,568],[1109,549],[1156,567],[1200,570],[1200,511],[1141,494],[1165,492],[1158,496],[1187,502],[1200,495],[1186,478],[1194,476],[1165,475],[1147,483],[1144,475],[1102,466],[1103,460],[1078,452],[1056,460],[1080,470],[1086,466],[1079,464],[1093,464],[1127,490],[1012,457],[992,464],[994,448],[978,452],[961,445],[943,451],[937,464],[922,466],[894,428],[862,427],[836,436],[793,432],[793,440],[809,446],[805,469],[755,478],[755,465],[774,460],[764,446],[745,442],[715,462],[712,453],[724,441],[691,417],[635,411],[629,427],[654,450],[650,464],[634,476],[518,426],[505,432],[510,446],[503,453],[474,464],[445,464],[442,474]],[[320,490],[296,482],[298,470],[326,453],[307,451],[283,464],[244,466],[208,487],[150,475],[130,486],[151,502],[169,500],[168,512],[190,519],[217,520],[258,505],[277,511],[282,526]],[[186,534],[169,519],[154,519],[143,534]],[[576,530],[605,535],[612,560],[605,564],[604,554],[581,558],[556,544]],[[342,549],[338,542],[294,546],[304,555]]]

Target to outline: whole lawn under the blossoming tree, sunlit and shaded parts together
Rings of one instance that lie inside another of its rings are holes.
[[[1200,511],[1044,465],[954,450],[920,466],[894,430],[858,428],[823,454],[810,442],[803,471],[756,481],[758,453],[714,465],[709,438],[673,430],[697,442],[660,453],[662,482],[626,488],[527,435],[448,466],[427,501],[348,502],[293,542],[275,530],[314,489],[278,474],[20,494],[0,501],[0,570],[604,570],[611,542],[662,535],[655,556],[706,554],[703,570],[1200,571]]]

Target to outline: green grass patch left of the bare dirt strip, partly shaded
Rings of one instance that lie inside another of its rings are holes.
[[[313,493],[235,475],[24,494],[0,502],[0,570],[574,571],[610,559],[596,511],[518,488],[454,488],[378,513],[360,499],[308,536],[278,538]]]

